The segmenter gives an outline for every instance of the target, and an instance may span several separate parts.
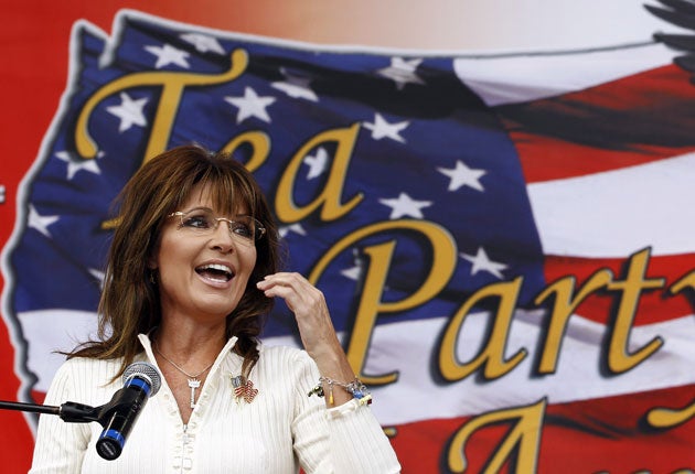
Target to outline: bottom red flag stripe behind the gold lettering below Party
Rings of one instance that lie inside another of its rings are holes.
[[[695,423],[670,430],[644,424],[654,407],[686,407],[694,386],[546,407],[537,473],[672,473],[695,465]],[[392,443],[404,473],[451,472],[447,450],[470,418],[428,420],[396,427]],[[510,423],[482,428],[466,446],[470,473],[484,472]],[[530,433],[533,434],[533,433]],[[655,453],[659,453],[657,455]],[[507,467],[510,464],[507,463]],[[509,472],[515,472],[511,468]]]

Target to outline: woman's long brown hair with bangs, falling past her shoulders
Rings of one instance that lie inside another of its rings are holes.
[[[277,226],[263,191],[244,165],[231,155],[199,146],[182,146],[147,161],[119,194],[117,227],[108,254],[99,301],[99,324],[95,341],[79,345],[72,357],[114,359],[122,357],[119,377],[141,352],[139,333],[159,325],[159,288],[152,281],[151,260],[167,216],[185,203],[194,186],[211,188],[213,204],[227,215],[242,206],[266,228],[256,243],[256,266],[244,295],[227,315],[226,336],[237,336],[234,351],[244,357],[248,375],[258,360],[258,335],[264,316],[272,308],[255,282],[275,273],[279,266]]]

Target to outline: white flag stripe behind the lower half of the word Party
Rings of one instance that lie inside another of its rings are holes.
[[[632,370],[606,378],[599,371],[599,359],[607,328],[575,315],[563,340],[557,371],[531,378],[535,352],[542,347],[538,337],[543,316],[539,312],[518,312],[510,332],[506,356],[522,347],[528,355],[504,377],[482,384],[475,381],[475,375],[457,383],[435,383],[431,375],[432,360],[438,358],[435,345],[446,317],[381,325],[374,332],[364,371],[379,375],[397,370],[399,376],[393,385],[372,387],[372,409],[382,424],[392,425],[466,417],[532,403],[543,397],[549,403],[560,403],[692,384],[695,383],[692,317],[633,328],[631,351],[656,336],[664,340],[664,346]],[[459,337],[459,360],[473,358],[483,341],[487,322],[485,314],[469,315]],[[265,342],[293,345],[289,337]]]

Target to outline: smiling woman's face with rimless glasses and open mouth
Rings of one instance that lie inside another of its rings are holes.
[[[220,215],[213,207],[206,187],[193,188],[179,212],[189,213],[181,225],[180,216],[167,218],[159,248],[151,266],[159,272],[162,317],[193,317],[220,323],[238,304],[256,265],[254,240],[244,227],[231,231],[227,222],[205,219]],[[239,214],[246,208],[239,207]],[[207,223],[207,226],[205,225]],[[212,224],[212,226],[211,226]],[[213,228],[217,225],[216,228]],[[201,230],[207,228],[206,230]]]

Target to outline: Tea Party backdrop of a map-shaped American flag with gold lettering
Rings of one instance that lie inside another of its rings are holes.
[[[199,142],[268,193],[404,472],[692,472],[695,86],[652,33],[435,54],[76,22],[2,252],[6,398],[94,331],[124,183]],[[282,305],[264,341],[299,344]],[[25,471],[35,418],[4,417]]]

